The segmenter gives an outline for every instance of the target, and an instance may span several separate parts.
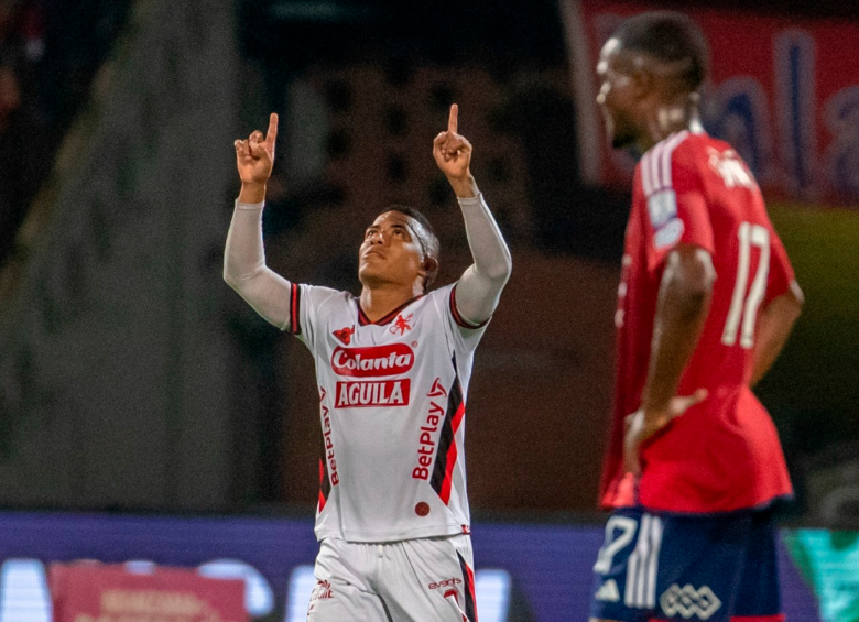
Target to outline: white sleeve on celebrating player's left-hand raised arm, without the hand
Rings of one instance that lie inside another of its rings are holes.
[[[236,201],[224,249],[224,280],[267,321],[289,330],[294,286],[265,265],[263,206]]]

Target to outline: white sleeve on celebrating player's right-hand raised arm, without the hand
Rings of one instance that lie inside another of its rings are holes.
[[[460,324],[479,327],[496,310],[501,291],[510,279],[512,261],[482,193],[460,198],[459,207],[474,263],[456,284],[453,312],[463,320]]]

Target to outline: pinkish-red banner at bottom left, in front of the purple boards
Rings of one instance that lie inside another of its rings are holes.
[[[52,564],[54,622],[247,622],[244,581],[211,579],[194,570]]]

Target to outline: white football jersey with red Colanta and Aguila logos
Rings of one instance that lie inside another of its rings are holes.
[[[455,285],[371,323],[347,292],[293,285],[291,332],[319,385],[316,537],[391,542],[469,532],[465,404],[483,335]]]

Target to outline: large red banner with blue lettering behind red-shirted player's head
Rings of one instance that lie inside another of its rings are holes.
[[[586,181],[628,185],[595,98],[599,50],[618,23],[655,4],[563,4]],[[739,151],[770,196],[859,198],[859,22],[691,9],[710,45],[704,124]]]

